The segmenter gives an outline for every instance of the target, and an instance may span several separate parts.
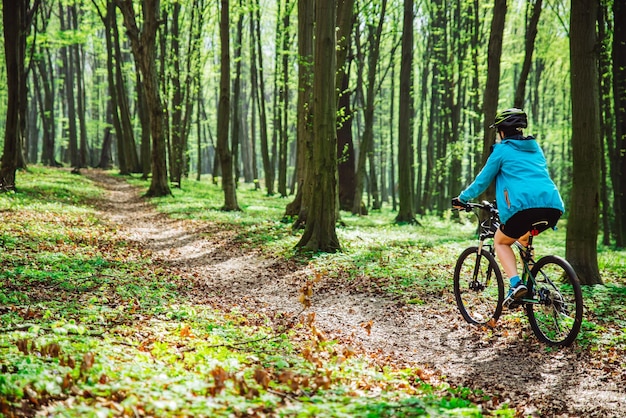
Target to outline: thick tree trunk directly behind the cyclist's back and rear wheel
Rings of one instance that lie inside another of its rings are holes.
[[[600,210],[600,104],[596,0],[572,0],[572,194],[566,255],[582,284],[602,283],[597,239]]]

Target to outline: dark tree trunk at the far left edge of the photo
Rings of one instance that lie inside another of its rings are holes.
[[[4,54],[7,67],[7,115],[0,161],[0,190],[15,189],[15,173],[24,168],[22,142],[26,126],[26,36],[39,7],[36,0],[3,0]]]

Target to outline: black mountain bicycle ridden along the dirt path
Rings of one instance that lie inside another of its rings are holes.
[[[479,209],[488,213],[480,220]],[[504,282],[495,259],[492,239],[500,227],[495,203],[467,203],[465,210],[478,219],[478,245],[466,248],[454,268],[454,296],[463,318],[474,325],[493,327],[504,308]],[[541,221],[533,226],[540,225]],[[523,264],[522,281],[528,292],[508,309],[524,307],[535,336],[550,346],[571,345],[582,324],[583,297],[576,272],[565,260],[546,255],[535,261],[530,231],[526,247],[515,242]]]

